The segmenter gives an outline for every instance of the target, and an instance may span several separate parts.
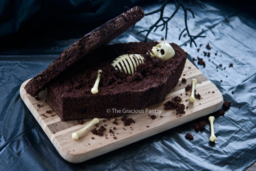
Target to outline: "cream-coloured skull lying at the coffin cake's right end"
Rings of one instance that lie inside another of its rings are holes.
[[[156,56],[162,61],[171,59],[175,54],[172,46],[166,42],[162,42],[154,46],[151,52],[150,52],[151,57]]]

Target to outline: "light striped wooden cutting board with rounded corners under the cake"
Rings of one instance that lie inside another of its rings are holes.
[[[187,82],[181,83],[181,78],[185,78]],[[223,104],[221,92],[212,84],[211,81],[207,80],[207,78],[204,77],[189,60],[186,61],[181,78],[177,85],[166,96],[164,102],[147,107],[150,111],[155,109],[161,110],[161,113],[149,113],[149,111],[146,112],[145,108],[143,109],[144,113],[128,115],[128,117],[132,117],[136,122],[130,126],[124,126],[123,121],[120,120],[121,117],[117,117],[117,123],[119,125],[112,123],[115,118],[106,120],[106,122],[103,122],[103,119],[100,119],[100,125],[107,125],[105,134],[107,134],[108,139],[106,139],[105,135],[99,137],[97,135],[93,135],[90,131],[86,131],[79,137],[79,140],[73,140],[71,136],[72,133],[83,128],[90,120],[84,120],[84,124],[81,125],[77,124],[77,121],[61,121],[55,112],[50,114],[46,113],[46,111],[51,110],[49,105],[45,102],[45,100],[47,100],[46,90],[40,92],[40,99],[36,100],[29,94],[26,94],[24,89],[24,86],[29,80],[23,82],[21,85],[20,95],[37,122],[49,137],[50,141],[52,141],[59,154],[69,162],[78,163],[146,137],[150,137],[191,120],[195,120],[221,108]],[[189,103],[189,101],[186,102],[185,100],[189,98],[191,90],[187,92],[189,95],[185,95],[185,87],[187,84],[191,84],[191,79],[193,78],[196,78],[198,81],[195,89],[197,90],[196,92],[202,96],[202,99],[196,100],[195,103]],[[213,91],[215,93],[213,93]],[[166,111],[163,109],[163,104],[172,100],[175,96],[180,96],[185,107],[189,107],[188,109],[185,109],[185,114],[176,115],[176,112],[173,110]],[[38,107],[39,105],[40,107]],[[148,116],[153,114],[156,115],[156,119],[154,120]],[[160,117],[160,115],[163,117]],[[113,127],[116,127],[114,132],[117,139],[114,139],[113,135],[110,136],[111,133],[109,133],[109,129],[113,129]],[[92,139],[92,137],[95,139]]]

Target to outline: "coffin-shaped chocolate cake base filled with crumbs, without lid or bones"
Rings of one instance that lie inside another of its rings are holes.
[[[187,53],[171,43],[175,55],[162,61],[149,52],[158,43],[118,43],[93,51],[49,85],[50,107],[61,120],[80,120],[110,118],[117,115],[111,109],[140,109],[162,102],[181,77]],[[145,63],[139,64],[135,73],[124,74],[111,65],[123,54],[140,54]],[[93,94],[99,69],[98,93]]]

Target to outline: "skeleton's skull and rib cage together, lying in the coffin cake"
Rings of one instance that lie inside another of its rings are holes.
[[[150,51],[151,57],[156,56],[162,61],[167,61],[171,59],[174,54],[175,52],[172,46],[169,43],[165,42],[157,44]],[[113,60],[111,65],[120,72],[124,71],[124,73],[133,74],[136,71],[136,67],[144,62],[144,57],[139,54],[126,54],[118,56],[115,60]]]

